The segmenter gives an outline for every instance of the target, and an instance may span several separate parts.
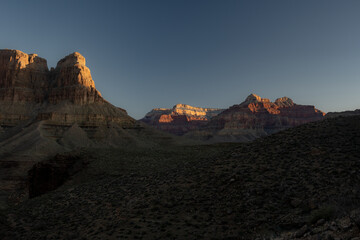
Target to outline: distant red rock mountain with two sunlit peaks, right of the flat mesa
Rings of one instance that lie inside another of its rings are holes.
[[[250,141],[275,132],[323,119],[325,113],[314,106],[299,105],[288,97],[271,102],[250,94],[244,102],[231,106],[187,137],[208,142]]]

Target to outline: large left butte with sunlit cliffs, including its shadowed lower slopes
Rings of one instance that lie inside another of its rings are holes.
[[[36,54],[0,50],[0,208],[26,198],[27,171],[55,154],[170,139],[108,103],[85,63],[75,52],[49,70]]]

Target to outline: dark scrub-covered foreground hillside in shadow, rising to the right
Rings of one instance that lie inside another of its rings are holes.
[[[1,239],[359,239],[360,117],[247,144],[102,150]]]

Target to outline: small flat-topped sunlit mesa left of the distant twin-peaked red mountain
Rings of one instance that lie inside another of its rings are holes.
[[[223,109],[177,104],[171,109],[155,108],[147,113],[141,121],[157,129],[183,135],[191,130],[205,126],[209,119],[222,111]]]

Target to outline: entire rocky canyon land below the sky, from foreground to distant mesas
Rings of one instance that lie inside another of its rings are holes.
[[[0,50],[0,239],[359,240],[357,112],[251,94],[137,122],[79,53]]]

